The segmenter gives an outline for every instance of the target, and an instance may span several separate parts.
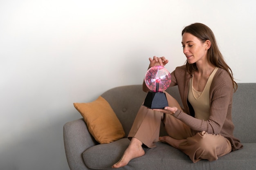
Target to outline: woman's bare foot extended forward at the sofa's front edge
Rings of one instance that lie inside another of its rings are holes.
[[[145,151],[142,148],[142,142],[137,138],[133,137],[130,141],[128,148],[124,151],[124,155],[121,159],[115,163],[112,168],[120,168],[126,166],[130,160],[141,157],[145,154]]]

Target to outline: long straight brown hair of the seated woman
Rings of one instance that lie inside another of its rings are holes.
[[[207,51],[207,60],[214,66],[223,68],[224,70],[226,70],[229,73],[229,76],[231,77],[231,80],[233,82],[234,91],[236,91],[237,83],[234,81],[233,72],[232,72],[231,68],[227,65],[227,63],[225,62],[222,54],[220,53],[220,50],[216,43],[215,36],[214,36],[213,32],[211,31],[211,29],[204,24],[194,23],[189,26],[186,26],[182,30],[182,35],[184,33],[190,33],[190,34],[194,35],[195,37],[199,38],[203,43],[206,40],[209,40],[211,42],[211,47]],[[189,64],[189,62],[187,62],[187,61],[186,61],[186,68],[190,74],[193,74],[193,72],[197,70],[197,66],[195,63]]]

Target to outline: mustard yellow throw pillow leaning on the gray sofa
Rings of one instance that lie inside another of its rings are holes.
[[[90,103],[74,103],[81,113],[89,132],[100,144],[108,144],[125,136],[124,129],[111,108],[101,96]]]

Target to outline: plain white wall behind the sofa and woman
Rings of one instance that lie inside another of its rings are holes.
[[[115,86],[141,84],[148,57],[184,64],[181,31],[215,33],[237,82],[256,82],[252,0],[1,0],[0,169],[68,170],[63,124]]]

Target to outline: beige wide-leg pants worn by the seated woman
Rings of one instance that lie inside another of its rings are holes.
[[[178,102],[166,93],[169,106],[180,108]],[[159,141],[161,121],[166,132],[176,142],[178,149],[195,163],[201,159],[215,161],[218,157],[231,152],[231,144],[221,135],[208,134],[205,131],[192,134],[191,128],[170,114],[154,111],[141,106],[132,125],[128,138],[139,139],[148,148],[155,147]]]

